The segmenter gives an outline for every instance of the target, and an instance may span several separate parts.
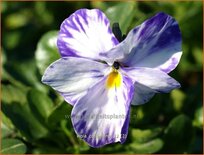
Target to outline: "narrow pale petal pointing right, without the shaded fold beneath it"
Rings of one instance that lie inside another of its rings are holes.
[[[146,89],[149,96],[148,98],[151,98],[153,94],[151,94],[151,91],[147,88],[150,88],[153,90],[153,92],[157,93],[168,93],[172,89],[180,88],[180,84],[176,80],[171,78],[167,73],[160,71],[159,69],[134,67],[123,69],[123,71],[133,81],[146,87],[143,90]],[[137,86],[137,84],[135,85]]]

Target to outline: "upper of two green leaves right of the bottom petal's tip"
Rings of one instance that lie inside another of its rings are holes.
[[[132,139],[137,143],[145,143],[158,136],[161,131],[161,127],[155,127],[145,130],[132,129]]]

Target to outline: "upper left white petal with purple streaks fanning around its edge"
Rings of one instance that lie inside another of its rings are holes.
[[[118,44],[110,22],[99,9],[80,9],[63,21],[57,45],[62,57],[77,56],[101,60]]]

